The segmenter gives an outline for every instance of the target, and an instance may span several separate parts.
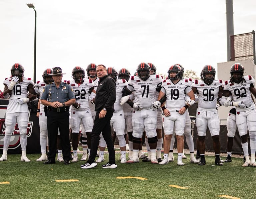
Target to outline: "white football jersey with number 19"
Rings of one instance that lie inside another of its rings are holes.
[[[165,107],[169,111],[180,110],[186,105],[185,95],[191,90],[191,82],[188,79],[181,79],[176,84],[172,80],[165,79],[161,89],[162,92],[166,93]]]

